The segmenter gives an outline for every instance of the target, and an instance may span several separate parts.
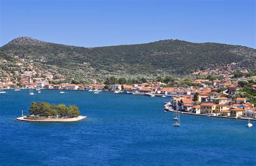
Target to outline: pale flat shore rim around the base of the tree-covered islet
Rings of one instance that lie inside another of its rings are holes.
[[[21,117],[18,117],[16,120],[26,121],[26,122],[77,122],[85,118],[86,116],[78,116],[78,117],[72,117],[72,118],[66,118],[66,119],[51,119],[51,118],[36,119],[36,118],[21,116]]]

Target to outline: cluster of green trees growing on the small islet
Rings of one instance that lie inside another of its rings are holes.
[[[80,111],[76,105],[65,104],[50,105],[47,102],[31,102],[29,108],[30,115],[35,116],[58,116],[58,117],[77,117]]]

